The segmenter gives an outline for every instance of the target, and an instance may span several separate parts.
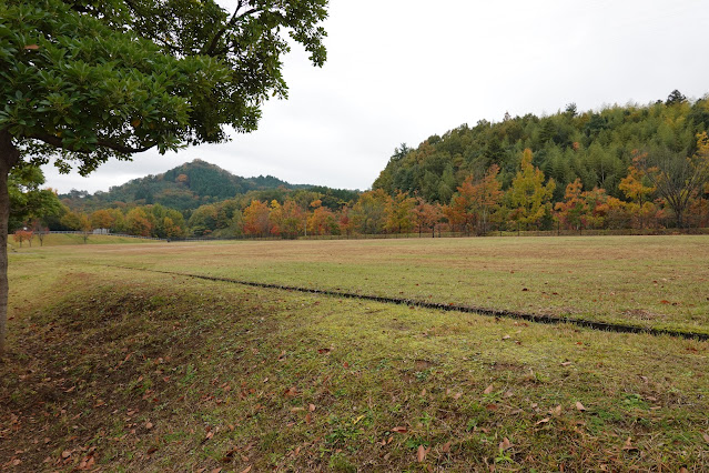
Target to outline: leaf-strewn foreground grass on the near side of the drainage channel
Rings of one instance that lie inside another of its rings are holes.
[[[91,255],[165,265],[175,249],[154,251]],[[78,254],[13,255],[0,364],[8,470],[709,469],[709,343],[256,290]]]

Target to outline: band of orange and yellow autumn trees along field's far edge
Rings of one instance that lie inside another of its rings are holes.
[[[709,225],[709,138],[697,135],[691,157],[636,151],[619,180],[620,198],[606,189],[585,190],[580,178],[568,183],[555,201],[557,182],[534,165],[530,149],[521,152],[507,189],[500,168],[492,164],[480,178],[469,174],[450,200],[431,202],[415,192],[388,194],[383,189],[338,201],[312,190],[252,192],[205,204],[184,214],[160,204],[102,209],[91,214],[65,211],[65,228],[143,236],[281,236],[418,234],[463,232],[486,234],[497,230],[658,229]],[[274,194],[275,192],[275,194]],[[264,199],[264,197],[274,197]]]

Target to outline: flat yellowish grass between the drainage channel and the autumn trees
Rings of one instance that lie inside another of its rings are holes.
[[[709,333],[702,235],[175,242],[59,256]]]

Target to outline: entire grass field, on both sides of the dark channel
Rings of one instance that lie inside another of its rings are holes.
[[[708,242],[24,248],[0,469],[707,471],[707,342],[115,266],[706,333]]]

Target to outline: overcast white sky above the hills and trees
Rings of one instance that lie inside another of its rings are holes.
[[[219,0],[227,7],[230,0]],[[331,0],[322,69],[301,48],[285,59],[290,98],[259,130],[217,145],[133,162],[88,178],[44,167],[47,185],[108,191],[195,158],[234,174],[368,189],[401,143],[463,123],[641,104],[679,89],[709,92],[706,0]]]

